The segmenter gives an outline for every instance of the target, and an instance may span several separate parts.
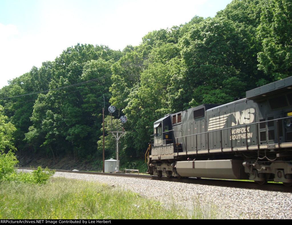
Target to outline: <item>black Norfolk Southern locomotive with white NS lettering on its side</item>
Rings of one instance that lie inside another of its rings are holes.
[[[292,77],[154,122],[146,153],[157,176],[249,179],[292,185]]]

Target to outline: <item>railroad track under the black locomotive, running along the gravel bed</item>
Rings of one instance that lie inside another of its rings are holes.
[[[34,168],[24,168],[18,167],[17,169],[27,169],[32,170]],[[51,169],[57,172],[66,172],[66,173],[79,173],[79,174],[94,174],[94,175],[104,175],[104,176],[125,176],[125,177],[134,177],[134,178],[143,178],[143,179],[152,179],[152,180],[163,180],[171,182],[183,182],[191,184],[201,184],[208,186],[223,186],[223,187],[236,187],[236,188],[247,188],[247,189],[260,189],[268,191],[283,191],[283,192],[292,192],[292,187],[286,187],[282,183],[271,183],[267,184],[257,184],[253,181],[235,181],[235,180],[220,180],[220,179],[206,179],[206,178],[186,178],[178,179],[176,177],[167,178],[166,176],[158,177],[152,175],[142,175],[142,174],[124,174],[124,173],[102,173],[102,172],[89,172],[89,171],[71,171],[71,170],[62,170],[62,169]]]

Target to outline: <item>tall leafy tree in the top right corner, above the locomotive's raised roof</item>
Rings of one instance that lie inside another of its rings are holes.
[[[260,20],[257,38],[263,51],[258,53],[259,70],[268,81],[291,76],[292,1],[264,1]]]

